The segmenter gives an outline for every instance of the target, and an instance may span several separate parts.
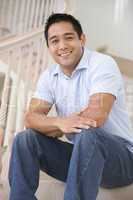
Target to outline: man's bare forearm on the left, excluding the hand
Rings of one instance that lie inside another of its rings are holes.
[[[25,117],[26,128],[35,129],[42,134],[53,137],[61,137],[63,133],[57,126],[57,117],[47,117],[44,114],[28,113]]]

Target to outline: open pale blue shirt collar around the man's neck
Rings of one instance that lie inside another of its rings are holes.
[[[82,70],[82,69],[87,69],[88,68],[88,64],[89,64],[89,57],[90,57],[90,51],[86,48],[84,48],[84,52],[82,55],[82,58],[79,62],[79,64],[77,65],[77,67],[75,68],[74,71],[78,71],[78,70]],[[57,75],[59,73],[61,73],[62,70],[60,68],[59,64],[56,64],[54,71],[53,71],[53,75]]]

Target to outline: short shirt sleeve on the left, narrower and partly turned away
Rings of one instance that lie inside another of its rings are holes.
[[[51,90],[50,73],[48,70],[44,71],[43,74],[40,76],[33,97],[47,101],[50,104],[54,103]]]

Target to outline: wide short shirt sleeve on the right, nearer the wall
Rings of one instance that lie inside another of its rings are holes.
[[[96,93],[109,93],[117,97],[121,80],[116,62],[113,58],[107,56],[92,70],[90,96]]]

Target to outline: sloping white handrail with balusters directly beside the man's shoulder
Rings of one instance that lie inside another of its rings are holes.
[[[48,57],[46,56],[46,44],[42,45],[43,31],[43,27],[37,28],[32,32],[8,38],[0,43],[0,59],[8,66],[5,69],[6,78],[0,108],[0,126],[6,128],[7,137],[5,139],[7,141],[8,135],[12,135],[12,132],[16,131],[15,124],[17,122],[19,122],[17,129],[23,128],[23,115],[28,96],[35,87],[40,71],[46,66],[46,58]],[[45,56],[43,56],[44,54]],[[16,76],[12,77],[13,73]],[[17,96],[20,88],[22,97],[20,97],[21,95]],[[11,92],[10,97],[9,92]],[[8,113],[5,102],[8,104]],[[19,109],[16,111],[12,105],[19,107]],[[16,118],[16,112],[21,120]]]

